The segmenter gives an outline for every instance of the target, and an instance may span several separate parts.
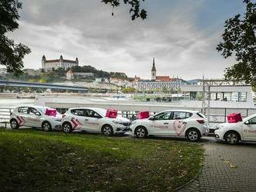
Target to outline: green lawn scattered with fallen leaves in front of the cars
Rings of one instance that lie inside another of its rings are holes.
[[[0,129],[0,191],[171,191],[202,156],[171,139]]]

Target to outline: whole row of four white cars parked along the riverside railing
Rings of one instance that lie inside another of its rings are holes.
[[[108,136],[130,132],[138,138],[148,135],[178,136],[192,142],[209,133],[206,117],[199,111],[189,110],[161,111],[130,122],[117,115],[116,111],[103,108],[70,108],[61,115],[54,108],[19,106],[12,111],[10,125],[12,129],[27,126],[47,132],[62,129],[64,132],[101,132]],[[230,144],[256,141],[256,115],[240,122],[218,125],[215,137]]]

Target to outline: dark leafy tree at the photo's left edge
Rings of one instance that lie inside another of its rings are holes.
[[[7,68],[9,73],[22,74],[22,59],[30,53],[29,47],[16,44],[6,36],[19,27],[19,9],[22,3],[19,0],[0,1],[0,64]]]

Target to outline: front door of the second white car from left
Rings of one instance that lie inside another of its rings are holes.
[[[85,109],[85,127],[89,132],[100,132],[99,119],[102,118],[96,111]]]

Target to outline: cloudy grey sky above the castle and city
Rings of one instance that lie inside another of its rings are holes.
[[[244,12],[242,0],[146,0],[148,18],[130,20],[129,9],[101,0],[21,0],[19,29],[9,36],[29,46],[26,68],[48,59],[78,57],[80,65],[150,78],[223,77],[232,64],[216,51],[226,19]]]

